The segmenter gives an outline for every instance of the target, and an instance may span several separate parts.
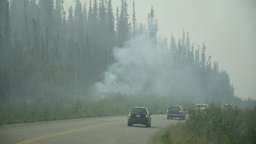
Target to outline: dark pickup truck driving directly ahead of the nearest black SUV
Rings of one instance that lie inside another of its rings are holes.
[[[167,110],[167,119],[180,118],[180,120],[185,120],[186,112],[182,106],[169,106]]]

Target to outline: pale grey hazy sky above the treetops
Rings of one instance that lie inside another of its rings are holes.
[[[94,0],[92,0],[94,1]],[[99,1],[99,0],[98,0]],[[85,0],[81,0],[82,5]],[[127,0],[130,19],[133,0]],[[112,0],[114,14],[121,0]],[[89,0],[86,0],[87,7]],[[75,0],[64,0],[67,9]],[[190,40],[205,42],[207,54],[227,70],[235,94],[256,99],[256,0],[135,0],[139,22],[147,24],[151,5],[159,21],[159,35],[178,41],[183,29]]]

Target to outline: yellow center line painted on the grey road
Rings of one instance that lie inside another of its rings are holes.
[[[67,134],[67,133],[70,133],[70,132],[76,132],[76,131],[79,131],[79,130],[87,130],[87,129],[90,129],[90,128],[94,128],[94,127],[101,127],[101,126],[106,126],[106,125],[112,125],[112,124],[115,124],[115,123],[121,123],[121,122],[113,122],[113,123],[105,123],[105,124],[102,124],[102,125],[92,125],[92,126],[89,126],[89,127],[82,127],[82,128],[78,128],[78,129],[74,129],[74,130],[68,130],[68,131],[64,131],[64,132],[58,132],[58,133],[54,133],[54,134],[50,134],[50,135],[45,135],[45,136],[41,136],[41,137],[36,137],[36,138],[33,138],[33,139],[28,139],[24,142],[19,142],[17,144],[30,144],[31,142],[36,142],[40,139],[45,139],[47,137],[53,137],[55,135],[62,135],[62,134]]]

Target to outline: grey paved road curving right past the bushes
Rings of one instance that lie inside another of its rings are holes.
[[[0,126],[1,144],[148,144],[155,132],[180,120],[152,115],[151,127],[127,126],[127,116]],[[184,121],[184,120],[183,120]]]

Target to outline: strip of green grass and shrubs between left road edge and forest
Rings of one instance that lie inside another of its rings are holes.
[[[173,104],[188,107],[190,103],[168,97],[124,96],[121,94],[87,101],[78,97],[71,104],[5,103],[0,104],[0,125],[100,116],[123,116],[128,114],[132,106],[147,106],[151,113],[166,113],[168,106]]]

